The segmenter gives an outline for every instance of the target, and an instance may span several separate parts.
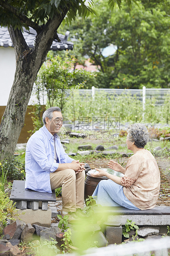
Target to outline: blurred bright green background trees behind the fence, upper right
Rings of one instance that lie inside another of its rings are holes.
[[[70,36],[81,40],[82,55],[100,66],[99,87],[167,88],[170,86],[170,0],[142,1],[132,9],[111,10],[105,1],[95,0],[98,16],[77,18]],[[108,45],[117,46],[114,55],[102,56]]]

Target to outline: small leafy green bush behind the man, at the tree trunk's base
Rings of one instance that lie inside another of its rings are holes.
[[[2,168],[4,171],[8,170],[7,178],[11,180],[23,180],[25,178],[25,163],[21,163],[15,156],[1,161],[0,176],[2,176]]]

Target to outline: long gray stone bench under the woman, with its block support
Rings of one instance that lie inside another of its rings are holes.
[[[157,226],[159,233],[167,233],[167,225],[170,225],[170,206],[155,206],[150,210],[130,210],[124,207],[94,207],[96,215],[102,212],[105,220],[105,236],[109,244],[121,243],[121,225],[125,225],[127,219],[132,220],[138,226]]]

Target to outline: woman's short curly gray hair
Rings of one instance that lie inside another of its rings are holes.
[[[142,123],[131,124],[128,126],[127,132],[128,140],[135,142],[134,144],[137,148],[144,148],[149,140],[148,130]]]

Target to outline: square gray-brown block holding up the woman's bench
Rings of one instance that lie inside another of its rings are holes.
[[[121,244],[122,227],[106,227],[106,239],[109,244]]]

